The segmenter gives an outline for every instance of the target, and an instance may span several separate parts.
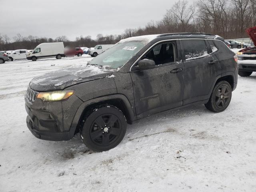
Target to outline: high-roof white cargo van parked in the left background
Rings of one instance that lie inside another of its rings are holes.
[[[34,50],[27,54],[27,59],[36,61],[39,58],[56,57],[61,59],[64,57],[64,44],[63,42],[56,43],[41,43]]]

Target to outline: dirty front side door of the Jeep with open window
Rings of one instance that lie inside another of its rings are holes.
[[[178,62],[179,44],[178,50],[176,41],[157,44],[141,58],[154,60],[156,67],[130,72],[138,118],[182,106],[184,65]]]

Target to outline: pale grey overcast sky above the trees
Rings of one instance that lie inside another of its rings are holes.
[[[126,28],[162,19],[172,0],[0,0],[0,33],[11,39],[22,36],[51,37],[101,33],[121,34]]]

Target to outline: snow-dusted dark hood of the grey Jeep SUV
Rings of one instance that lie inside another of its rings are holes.
[[[74,84],[106,78],[112,72],[91,65],[73,66],[35,77],[29,86],[36,91],[62,90]]]

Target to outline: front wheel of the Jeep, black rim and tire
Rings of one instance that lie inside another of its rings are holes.
[[[88,112],[80,130],[84,144],[94,151],[107,151],[116,147],[126,133],[126,118],[114,106],[99,106]]]

